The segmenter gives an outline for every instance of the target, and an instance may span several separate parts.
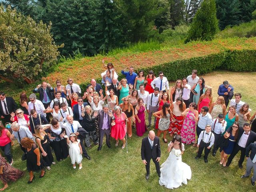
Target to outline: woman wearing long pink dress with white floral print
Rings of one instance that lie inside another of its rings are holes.
[[[182,129],[180,132],[182,143],[184,144],[195,144],[196,143],[196,122],[198,121],[198,111],[196,103],[190,103],[189,108],[186,108],[182,115],[186,115],[183,120]]]

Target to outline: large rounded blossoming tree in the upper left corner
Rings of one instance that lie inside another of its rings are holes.
[[[36,23],[10,6],[0,6],[0,78],[32,83],[49,69],[59,55],[50,29],[51,23]]]

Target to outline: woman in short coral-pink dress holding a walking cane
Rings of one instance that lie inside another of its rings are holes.
[[[110,136],[116,140],[116,147],[119,144],[119,140],[122,140],[122,142],[123,142],[122,149],[124,149],[126,146],[125,122],[128,121],[128,118],[126,117],[126,114],[121,111],[120,106],[115,106],[114,111],[115,111],[115,113],[114,113],[115,120],[112,120],[112,123],[111,123],[112,128],[111,128]]]

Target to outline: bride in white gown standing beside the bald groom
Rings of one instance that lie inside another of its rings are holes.
[[[159,184],[166,188],[173,189],[187,184],[187,179],[191,179],[191,169],[186,163],[181,161],[181,155],[185,148],[181,142],[180,135],[174,136],[168,144],[167,151],[170,152],[167,160],[161,165],[161,176]]]

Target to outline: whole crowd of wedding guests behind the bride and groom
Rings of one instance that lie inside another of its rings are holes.
[[[219,86],[219,97],[213,102],[212,88],[197,76],[196,70],[187,78],[177,80],[169,89],[169,82],[163,72],[159,72],[158,77],[153,71],[144,76],[140,70],[137,75],[134,68],[129,67],[128,72],[121,72],[126,78],[118,82],[113,64],[109,63],[106,67],[107,70],[101,74],[105,94],[102,85],[94,79],[83,95],[80,86],[72,78],[67,79],[66,86],[57,80],[55,88],[42,82],[33,90],[39,93],[39,100],[34,93],[27,98],[26,93],[22,92],[21,108],[17,109],[11,97],[0,93],[2,121],[13,122],[10,126],[12,134],[10,129],[0,126],[0,147],[12,165],[10,148],[13,140],[18,141],[24,152],[22,158],[27,161],[30,172],[28,183],[33,181],[34,171],[40,170],[40,177],[43,177],[45,169],[50,170],[50,166],[55,164],[51,148],[57,161],[70,156],[73,168],[76,168],[77,163],[81,169],[82,154],[88,160],[91,159],[85,148],[92,148],[91,141],[98,145],[100,151],[105,135],[108,148],[111,147],[112,137],[116,140],[115,146],[121,140],[121,148],[124,149],[125,136],[132,137],[132,127],[136,128],[137,136],[143,136],[148,128],[154,126],[158,137],[163,133],[164,143],[168,142],[167,132],[171,137],[180,135],[180,142],[199,148],[196,159],[201,157],[205,149],[205,162],[208,162],[208,153],[214,145],[212,154],[215,156],[218,148],[222,150],[220,164],[223,166],[228,166],[238,150],[241,150],[236,148],[239,136],[238,131],[234,130],[236,126],[239,127],[237,130],[244,128],[249,120],[255,118],[256,113],[250,118],[249,105],[240,100],[241,94],[234,94],[234,88],[227,81]],[[235,99],[232,99],[233,95]],[[252,122],[251,129],[256,129],[256,120]],[[254,132],[249,130],[251,133]],[[254,136],[250,138],[254,139]],[[245,148],[244,145],[240,147]],[[226,163],[228,154],[234,155],[230,155]],[[239,165],[242,165],[243,160]]]

